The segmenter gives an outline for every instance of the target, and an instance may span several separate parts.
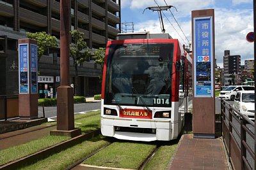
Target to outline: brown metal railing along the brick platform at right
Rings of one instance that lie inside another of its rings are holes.
[[[222,99],[221,128],[233,169],[254,169],[255,123]]]

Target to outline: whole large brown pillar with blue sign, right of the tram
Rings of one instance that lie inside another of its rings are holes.
[[[214,10],[192,11],[193,135],[215,138]]]

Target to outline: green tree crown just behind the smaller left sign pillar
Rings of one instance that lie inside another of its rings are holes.
[[[35,39],[37,41],[37,60],[39,61],[42,55],[44,55],[47,48],[58,46],[57,38],[47,34],[46,32],[27,32],[28,38]]]

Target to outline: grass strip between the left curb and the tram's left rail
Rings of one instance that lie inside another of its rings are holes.
[[[97,136],[96,138],[84,141],[79,145],[63,150],[62,152],[47,157],[47,159],[39,160],[35,164],[24,166],[20,169],[65,169],[109,143],[110,141],[108,141],[107,138]]]

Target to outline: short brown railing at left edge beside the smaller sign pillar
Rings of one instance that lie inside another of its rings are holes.
[[[0,121],[19,117],[19,95],[0,96]]]

